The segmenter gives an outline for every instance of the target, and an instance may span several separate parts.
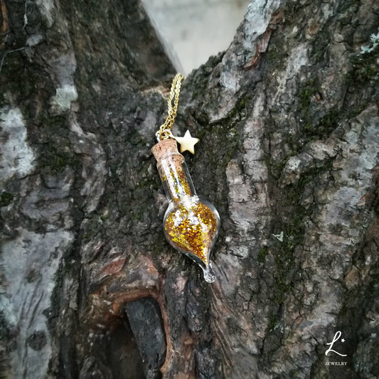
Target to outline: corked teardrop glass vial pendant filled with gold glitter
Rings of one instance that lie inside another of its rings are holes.
[[[175,139],[165,139],[154,145],[151,151],[169,200],[164,215],[164,235],[171,246],[198,263],[205,281],[212,283],[215,275],[210,251],[220,227],[218,211],[196,195]]]

